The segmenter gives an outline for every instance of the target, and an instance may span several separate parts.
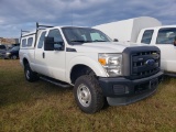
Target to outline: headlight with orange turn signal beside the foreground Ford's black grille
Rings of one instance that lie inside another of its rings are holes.
[[[122,75],[122,55],[121,54],[106,54],[101,53],[98,57],[109,77]]]

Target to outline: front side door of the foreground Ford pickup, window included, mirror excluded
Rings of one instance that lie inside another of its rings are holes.
[[[44,51],[44,62],[47,66],[48,76],[55,79],[65,80],[65,48],[58,50],[64,46],[64,41],[58,29],[48,31],[48,37],[54,37],[54,42],[63,42],[62,44],[54,44],[55,51]]]

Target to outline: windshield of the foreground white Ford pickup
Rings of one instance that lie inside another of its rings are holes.
[[[82,44],[91,42],[110,42],[111,40],[101,31],[89,28],[63,28],[68,44]]]

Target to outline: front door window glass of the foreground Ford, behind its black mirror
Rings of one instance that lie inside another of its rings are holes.
[[[61,33],[59,33],[59,30],[57,30],[57,29],[51,30],[51,31],[48,32],[48,35],[47,35],[47,36],[54,37],[54,42],[59,42],[59,43],[57,43],[57,44],[54,44],[54,47],[55,47],[55,48],[59,48],[59,47],[62,47],[62,45],[64,44],[63,37],[62,37]]]

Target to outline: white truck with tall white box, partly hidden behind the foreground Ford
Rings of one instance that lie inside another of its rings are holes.
[[[94,28],[111,38],[157,46],[161,50],[161,68],[164,74],[176,76],[176,25],[162,25],[154,18],[141,16]]]

